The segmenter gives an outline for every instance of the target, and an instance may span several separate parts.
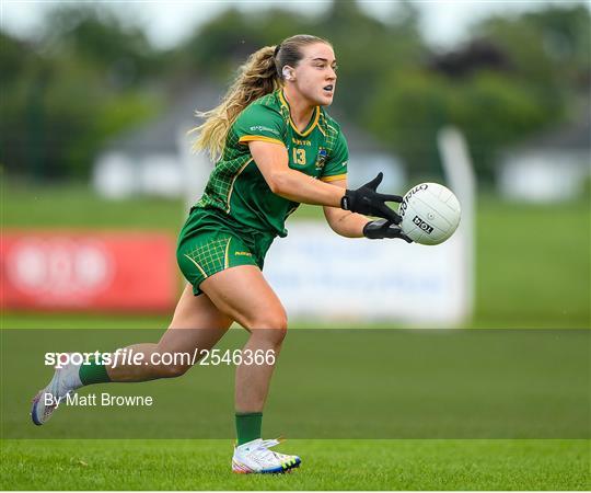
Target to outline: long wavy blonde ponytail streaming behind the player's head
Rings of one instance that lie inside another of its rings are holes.
[[[206,118],[202,125],[189,131],[199,134],[193,145],[195,151],[205,150],[213,161],[218,161],[223,152],[228,130],[242,110],[280,87],[275,48],[265,46],[248,57],[219,106],[208,112],[195,112],[197,116]]]

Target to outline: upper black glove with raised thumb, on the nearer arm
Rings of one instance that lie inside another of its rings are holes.
[[[364,214],[366,216],[383,217],[395,225],[399,225],[402,217],[385,205],[386,202],[402,203],[399,195],[379,194],[378,185],[382,182],[384,174],[378,173],[371,182],[366,183],[357,190],[348,190],[340,199],[340,208],[351,213]]]

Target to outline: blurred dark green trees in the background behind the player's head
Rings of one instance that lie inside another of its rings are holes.
[[[409,2],[378,20],[335,1],[315,18],[229,9],[162,50],[108,10],[58,7],[33,38],[0,31],[0,164],[42,182],[84,180],[109,138],[158,118],[181,88],[228,85],[252,51],[310,33],[335,46],[339,114],[419,173],[439,165],[436,133],[454,124],[487,181],[499,151],[589,111],[590,25],[583,4],[548,5],[487,18],[438,53]]]

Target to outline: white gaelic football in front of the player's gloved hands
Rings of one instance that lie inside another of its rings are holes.
[[[421,183],[407,192],[398,214],[408,238],[420,244],[439,244],[453,234],[462,211],[451,190],[439,183]]]

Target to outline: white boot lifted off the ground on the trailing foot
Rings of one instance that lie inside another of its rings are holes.
[[[37,426],[45,424],[59,404],[66,402],[66,395],[82,387],[78,375],[80,365],[72,364],[65,365],[63,368],[56,368],[51,381],[33,398],[31,408],[33,423]]]

